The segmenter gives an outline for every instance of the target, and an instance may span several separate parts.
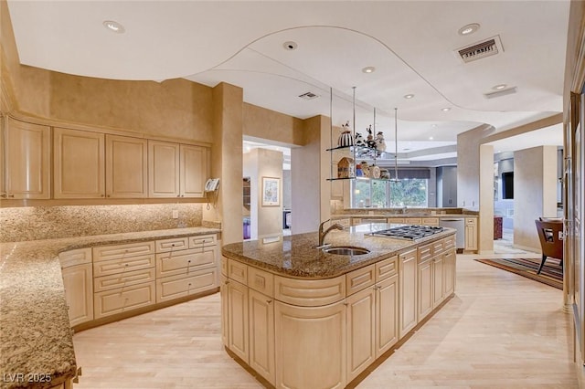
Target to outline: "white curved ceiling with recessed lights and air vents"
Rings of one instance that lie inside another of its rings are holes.
[[[9,0],[8,6],[25,65],[106,79],[226,81],[242,87],[251,104],[298,118],[331,112],[335,125],[353,125],[355,90],[356,131],[375,125],[388,150],[394,150],[395,108],[399,152],[452,145],[458,133],[480,125],[505,131],[562,110],[566,0]],[[104,20],[121,23],[125,33],[112,33]],[[481,27],[459,35],[470,23]],[[498,55],[467,64],[457,57],[456,49],[490,37],[502,42]],[[284,49],[287,41],[298,47]],[[366,74],[365,67],[376,71]],[[486,99],[498,84],[517,91]],[[319,97],[298,98],[307,91]],[[404,99],[409,93],[414,98]],[[548,142],[555,132],[562,144],[561,131],[533,131],[529,138]]]

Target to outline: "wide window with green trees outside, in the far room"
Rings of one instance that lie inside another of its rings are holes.
[[[359,179],[351,181],[352,207],[401,208],[429,205],[428,169],[399,170],[399,181]]]

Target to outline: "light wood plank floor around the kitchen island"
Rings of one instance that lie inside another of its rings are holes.
[[[359,388],[578,387],[562,292],[471,258],[456,296]],[[261,388],[223,351],[219,314],[215,294],[76,334],[75,387]]]

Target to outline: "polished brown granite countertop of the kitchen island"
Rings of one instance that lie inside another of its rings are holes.
[[[333,230],[325,237],[325,243],[333,246],[366,247],[370,250],[368,254],[359,256],[327,254],[314,248],[318,242],[316,232],[282,237],[280,241],[266,244],[259,240],[232,243],[222,247],[222,254],[290,278],[329,279],[455,233],[454,229],[445,228],[441,233],[416,241],[366,235],[391,226],[396,225],[368,223],[343,231]]]

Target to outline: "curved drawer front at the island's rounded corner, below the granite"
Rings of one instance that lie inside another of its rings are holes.
[[[319,307],[346,298],[346,276],[335,279],[286,279],[274,276],[274,298],[302,307]]]

